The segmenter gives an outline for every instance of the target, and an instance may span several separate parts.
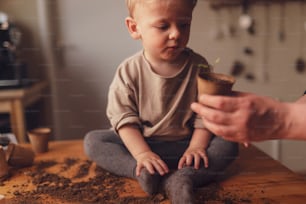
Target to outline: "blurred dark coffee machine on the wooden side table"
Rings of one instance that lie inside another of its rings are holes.
[[[28,85],[26,64],[18,60],[19,29],[0,11],[0,89]]]

